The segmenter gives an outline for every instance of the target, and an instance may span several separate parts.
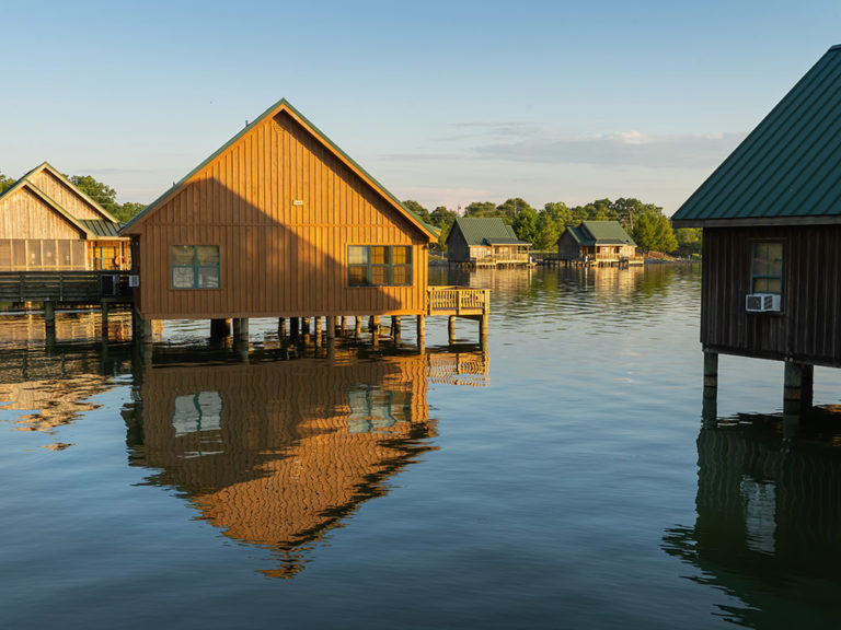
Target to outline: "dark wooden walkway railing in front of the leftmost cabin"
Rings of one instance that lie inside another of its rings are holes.
[[[0,271],[0,302],[129,301],[125,271]]]

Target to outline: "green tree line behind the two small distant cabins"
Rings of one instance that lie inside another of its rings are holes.
[[[403,205],[441,231],[437,248],[446,249],[447,236],[459,214],[443,206],[429,212],[414,199],[407,199]],[[581,221],[619,221],[645,252],[683,256],[701,253],[700,229],[675,230],[669,218],[663,213],[663,208],[634,198],[620,197],[614,201],[597,199],[572,208],[563,201],[550,201],[537,210],[521,197],[512,197],[499,205],[474,201],[464,208],[463,215],[498,217],[514,229],[520,241],[531,243],[533,249],[542,252],[554,249],[564,230]]]

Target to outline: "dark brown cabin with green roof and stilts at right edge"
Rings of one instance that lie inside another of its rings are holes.
[[[672,217],[703,228],[701,343],[786,362],[785,409],[841,366],[841,46],[833,46]]]

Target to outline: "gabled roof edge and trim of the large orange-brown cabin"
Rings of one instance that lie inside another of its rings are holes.
[[[404,214],[412,223],[418,226],[422,231],[426,232],[431,238],[438,238],[438,234],[440,232],[438,228],[430,225],[429,223],[426,223],[417,214],[415,214],[411,209],[405,207],[382,184],[380,184],[379,182],[377,182],[377,179],[371,177],[371,175],[365,168],[359,166],[359,164],[357,164],[356,161],[354,161],[347,153],[345,153],[338,147],[338,144],[336,144],[335,142],[333,142],[333,140],[327,138],[327,136],[323,133],[318,127],[315,127],[315,125],[310,122],[309,119],[307,119],[307,117],[304,117],[300,112],[298,112],[298,109],[292,107],[292,105],[286,98],[281,98],[280,101],[272,105],[268,109],[263,112],[263,114],[261,114],[256,119],[249,122],[239,133],[237,133],[233,138],[228,140],[228,142],[222,144],[211,155],[209,155],[206,160],[204,160],[200,164],[198,164],[198,166],[193,168],[193,171],[187,173],[178,182],[173,184],[169,190],[166,190],[158,199],[152,201],[149,206],[147,206],[140,213],[133,217],[131,220],[125,224],[125,226],[123,228],[123,231],[126,231],[138,223],[142,223],[146,217],[154,212],[154,210],[158,207],[162,206],[176,192],[182,190],[194,175],[199,173],[203,168],[205,168],[208,164],[210,164],[214,160],[216,160],[219,155],[221,155],[226,151],[226,149],[234,144],[240,138],[242,138],[249,131],[251,131],[254,127],[263,122],[263,120],[265,120],[266,118],[277,116],[280,112],[286,112],[287,114],[289,114],[297,122],[299,122],[307,131],[309,131],[316,140],[319,140],[326,149],[329,149],[336,158],[338,158],[341,162],[344,162],[354,173],[356,173],[356,175],[358,175],[364,182],[366,182],[377,192],[379,192],[382,197],[384,197],[399,212]]]

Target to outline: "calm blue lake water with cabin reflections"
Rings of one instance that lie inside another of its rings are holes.
[[[783,440],[782,365],[722,357],[703,425],[696,267],[446,273],[486,352],[3,316],[0,627],[841,626],[841,416]]]

